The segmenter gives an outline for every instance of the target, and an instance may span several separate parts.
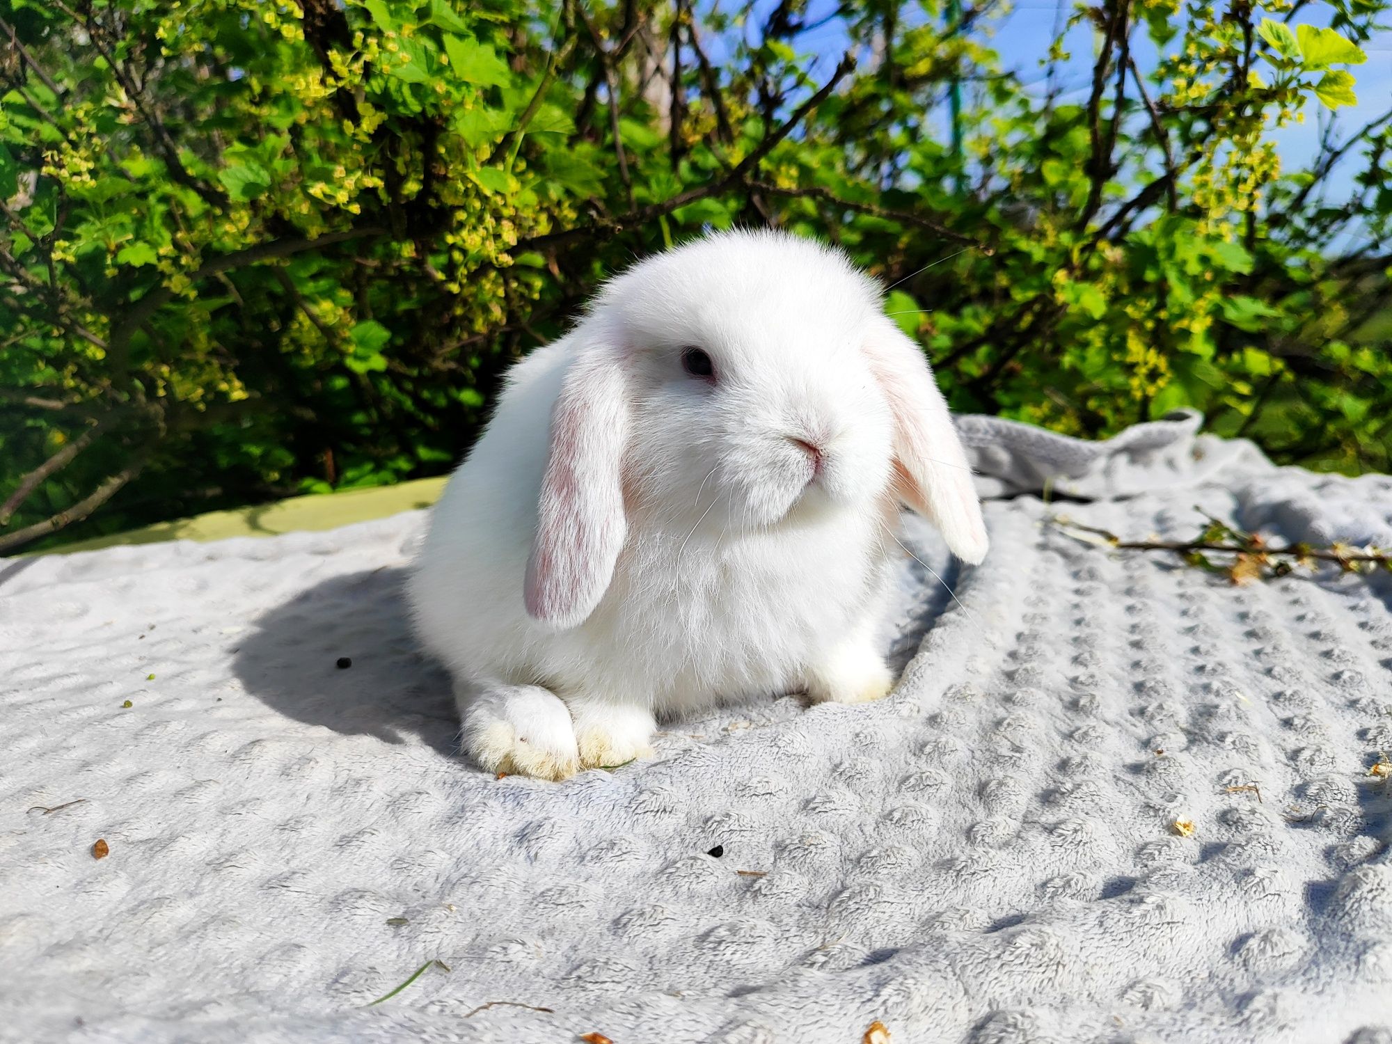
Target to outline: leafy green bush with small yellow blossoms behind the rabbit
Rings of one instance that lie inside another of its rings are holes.
[[[1385,469],[1392,113],[1303,170],[1272,134],[1352,103],[1388,6],[1080,6],[1069,96],[990,3],[848,0],[832,70],[795,1],[11,0],[0,550],[438,473],[707,226],[841,244],[958,409]]]

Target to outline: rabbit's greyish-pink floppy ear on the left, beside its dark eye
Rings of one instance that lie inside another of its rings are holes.
[[[526,611],[558,631],[578,626],[604,597],[628,523],[624,450],[629,404],[618,352],[582,348],[551,411]]]

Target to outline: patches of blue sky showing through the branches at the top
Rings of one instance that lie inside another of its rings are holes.
[[[757,10],[761,13],[774,6],[777,0],[759,0]],[[807,21],[814,22],[823,14],[835,10],[834,0],[813,0],[807,14]],[[970,6],[970,0],[963,6]],[[1015,70],[1020,70],[1026,79],[1041,78],[1040,60],[1048,50],[1054,39],[1057,26],[1066,22],[1072,11],[1072,3],[1065,0],[1059,4],[1055,0],[1022,0],[1004,18],[995,22],[997,33],[992,40],[994,49],[1001,54],[1002,63]],[[1328,4],[1310,4],[1297,21],[1308,21],[1315,25],[1328,25],[1332,8]],[[1136,32],[1132,38],[1136,49],[1137,64],[1144,70],[1154,61],[1154,47],[1144,32]],[[813,50],[818,54],[814,78],[824,78],[841,56],[846,45],[846,36],[835,22],[806,33],[799,42],[800,50]],[[1069,61],[1061,70],[1061,84],[1070,97],[1086,100],[1091,84],[1093,31],[1086,25],[1075,26],[1068,38],[1066,46],[1070,52]],[[1392,104],[1392,31],[1382,32],[1363,45],[1368,54],[1368,61],[1352,68],[1357,79],[1359,104],[1339,110],[1338,124],[1345,134],[1361,127],[1368,120],[1381,114]],[[1043,90],[1043,84],[1040,85]],[[1297,170],[1307,164],[1318,150],[1320,124],[1317,113],[1322,110],[1314,99],[1306,107],[1306,122],[1274,131],[1278,149],[1281,152],[1285,170]],[[1322,110],[1328,114],[1328,110]],[[1331,180],[1331,196],[1342,196],[1349,191],[1352,177],[1357,167],[1357,157],[1352,156],[1340,164]]]

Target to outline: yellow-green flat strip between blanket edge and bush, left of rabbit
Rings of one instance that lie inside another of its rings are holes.
[[[337,529],[354,522],[427,508],[444,490],[445,479],[419,479],[397,486],[376,486],[310,497],[291,497],[276,504],[259,504],[235,511],[160,522],[128,533],[111,533],[56,547],[47,554],[95,551],[117,544],[155,544],[161,540],[226,540],[230,536],[276,536],[295,530]]]

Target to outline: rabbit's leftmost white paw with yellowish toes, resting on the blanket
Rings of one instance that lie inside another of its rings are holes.
[[[490,773],[565,780],[580,768],[571,713],[539,685],[503,685],[469,700],[464,748]]]

